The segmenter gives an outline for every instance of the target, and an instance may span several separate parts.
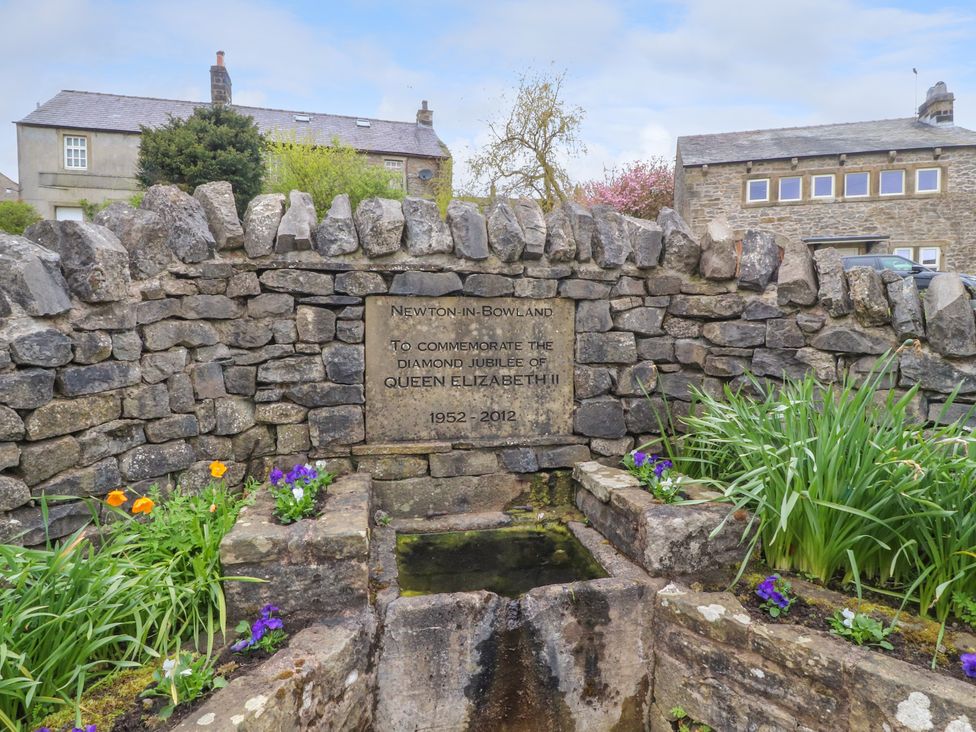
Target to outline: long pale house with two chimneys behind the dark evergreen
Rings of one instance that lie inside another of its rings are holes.
[[[210,104],[232,104],[223,51],[210,67]],[[61,91],[17,124],[17,161],[24,201],[50,219],[81,219],[79,202],[124,201],[139,189],[140,127],[188,117],[206,102]],[[434,113],[421,103],[416,121],[396,122],[317,112],[233,105],[262,133],[294,134],[329,144],[338,138],[373,162],[399,171],[411,195],[429,194],[430,181],[450,158],[434,131]]]

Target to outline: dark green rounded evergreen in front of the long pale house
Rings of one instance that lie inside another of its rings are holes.
[[[223,105],[197,107],[185,120],[171,117],[162,127],[142,128],[136,177],[147,188],[175,183],[190,193],[201,183],[229,181],[243,213],[261,192],[263,146],[252,117]]]

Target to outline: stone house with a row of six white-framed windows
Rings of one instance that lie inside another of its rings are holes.
[[[943,82],[915,118],[678,138],[675,208],[813,249],[893,253],[976,271],[976,132]]]

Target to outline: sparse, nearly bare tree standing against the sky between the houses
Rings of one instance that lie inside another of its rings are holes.
[[[488,124],[489,141],[468,161],[491,197],[530,196],[546,210],[572,194],[564,160],[586,152],[583,109],[562,99],[563,74],[523,76],[508,115]]]

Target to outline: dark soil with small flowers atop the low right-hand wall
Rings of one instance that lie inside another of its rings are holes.
[[[781,572],[780,574],[784,579],[792,579],[786,572]],[[749,611],[749,615],[756,622],[770,625],[802,625],[805,628],[830,632],[830,625],[827,623],[827,618],[834,614],[833,609],[810,604],[802,597],[795,595],[796,601],[793,603],[792,607],[790,607],[789,613],[780,615],[778,618],[773,618],[770,617],[769,613],[760,608],[763,600],[756,595],[756,589],[751,584],[745,581],[740,581],[731,589],[731,592],[736,596],[739,602],[742,603],[743,607]],[[877,602],[877,600],[874,601]],[[835,609],[841,608],[838,607]],[[887,625],[890,621],[889,618],[877,613],[868,614],[876,620],[880,620],[885,625]],[[886,640],[894,646],[894,650],[885,651],[876,647],[870,647],[870,650],[877,653],[884,653],[888,656],[893,656],[902,661],[907,661],[914,666],[921,666],[929,671],[933,670],[933,648],[931,646],[923,646],[923,644],[915,641],[914,639],[907,638],[906,636],[902,635],[898,632],[897,625],[895,632],[891,633]],[[963,673],[962,666],[959,663],[959,654],[954,651],[946,654],[940,654],[934,670],[936,673],[944,676],[951,676],[953,678],[961,679],[962,681],[976,685],[976,679],[971,679]]]

